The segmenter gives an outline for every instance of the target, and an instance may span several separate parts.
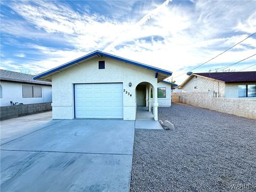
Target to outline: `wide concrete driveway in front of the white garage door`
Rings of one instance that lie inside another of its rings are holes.
[[[129,191],[134,121],[44,114],[1,122],[2,191]]]

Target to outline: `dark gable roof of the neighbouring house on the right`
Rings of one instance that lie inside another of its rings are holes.
[[[256,71],[193,73],[179,86],[179,89],[182,89],[182,86],[184,86],[194,76],[210,78],[214,81],[224,83],[256,82]]]

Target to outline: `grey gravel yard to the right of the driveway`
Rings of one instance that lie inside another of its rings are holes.
[[[175,131],[135,130],[131,191],[256,191],[256,120],[178,103],[158,114]]]

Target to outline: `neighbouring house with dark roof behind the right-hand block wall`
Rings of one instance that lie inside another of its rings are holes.
[[[214,97],[256,98],[256,71],[193,73],[179,89],[182,92],[213,91]]]

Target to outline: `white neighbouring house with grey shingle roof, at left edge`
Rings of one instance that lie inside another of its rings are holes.
[[[0,69],[0,104],[52,102],[51,82],[33,79],[34,75]]]

